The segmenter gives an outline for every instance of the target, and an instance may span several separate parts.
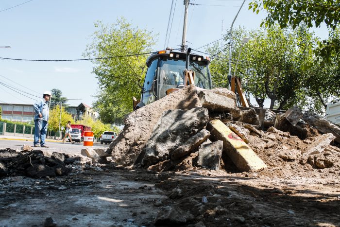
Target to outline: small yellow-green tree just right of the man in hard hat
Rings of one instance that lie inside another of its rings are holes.
[[[49,130],[58,132],[59,131],[59,120],[60,120],[60,105],[54,106],[50,110],[50,118],[49,118]],[[66,112],[65,107],[63,106],[61,109],[61,121],[60,126],[64,126],[67,124],[67,122],[70,121],[73,123],[72,115]]]

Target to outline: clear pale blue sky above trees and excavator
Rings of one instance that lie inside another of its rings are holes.
[[[220,39],[222,31],[225,33],[230,29],[242,1],[190,0],[190,3],[199,5],[189,6],[188,46],[195,49]],[[112,24],[120,17],[125,17],[139,28],[158,34],[158,41],[153,49],[162,50],[171,2],[172,0],[1,0],[0,46],[11,48],[0,48],[0,57],[82,59],[86,45],[92,42],[91,35],[96,31],[94,23],[102,21],[104,24]],[[249,2],[250,0],[246,0],[234,28],[242,26],[249,30],[257,29],[266,17],[265,12],[261,11],[256,15],[248,10]],[[175,10],[169,45],[166,46],[178,48],[182,39],[184,5],[183,0],[173,0],[173,4]],[[328,35],[324,26],[314,31],[321,38]],[[37,62],[0,59],[0,103],[33,104],[45,90],[58,88],[68,99],[81,99],[69,100],[69,105],[79,105],[81,102],[92,105],[98,91],[98,80],[92,73],[93,67],[90,61]]]

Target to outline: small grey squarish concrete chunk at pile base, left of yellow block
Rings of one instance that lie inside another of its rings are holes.
[[[202,144],[198,150],[198,164],[206,169],[219,170],[223,141]]]

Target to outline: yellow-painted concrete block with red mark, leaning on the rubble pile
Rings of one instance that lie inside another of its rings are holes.
[[[207,129],[210,131],[211,138],[223,141],[223,152],[231,158],[239,171],[267,167],[255,152],[220,120],[210,121]]]

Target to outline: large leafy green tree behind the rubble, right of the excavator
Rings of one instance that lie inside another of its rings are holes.
[[[249,36],[251,40],[240,49],[240,41],[244,36]],[[302,83],[306,76],[306,65],[310,65],[313,59],[311,53],[314,41],[313,34],[305,27],[293,32],[278,26],[251,32],[236,29],[233,34],[233,74],[241,51],[236,76],[242,79],[246,95],[252,94],[260,107],[266,98],[271,99],[270,108],[289,108],[298,103],[305,105],[306,89]],[[218,45],[215,48],[208,51],[214,53],[221,49]],[[222,50],[225,49],[222,47]],[[227,75],[225,59],[228,59],[228,54],[220,54],[217,55],[220,60],[212,62],[210,67],[214,84],[220,83],[220,76],[216,77],[216,74],[224,74],[222,83]]]

